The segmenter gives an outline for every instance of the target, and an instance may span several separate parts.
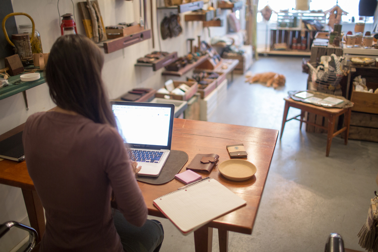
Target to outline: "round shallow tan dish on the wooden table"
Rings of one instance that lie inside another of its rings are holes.
[[[255,175],[256,165],[243,159],[230,159],[218,165],[219,172],[228,179],[241,181]]]

